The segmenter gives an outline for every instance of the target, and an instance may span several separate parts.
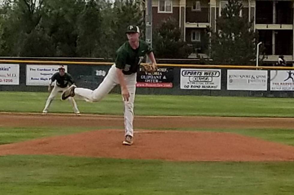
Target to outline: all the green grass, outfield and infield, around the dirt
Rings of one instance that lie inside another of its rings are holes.
[[[41,112],[47,95],[0,92],[0,111]],[[291,98],[138,95],[135,112],[137,115],[293,117],[293,101]],[[77,104],[83,113],[122,115],[120,95],[110,94],[100,103],[78,101]],[[70,113],[71,109],[68,102],[58,99],[51,107],[52,112]],[[0,144],[97,129],[99,127],[7,128],[0,124]],[[294,127],[210,131],[233,132],[294,145]],[[294,192],[293,181],[294,162],[167,162],[45,155],[0,156],[1,195],[290,195]]]

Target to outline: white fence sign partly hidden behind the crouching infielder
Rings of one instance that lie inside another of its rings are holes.
[[[26,85],[48,85],[59,65],[26,65]],[[67,72],[67,65],[64,65]]]

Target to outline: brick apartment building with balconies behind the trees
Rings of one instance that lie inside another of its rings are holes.
[[[160,22],[173,17],[181,29],[182,39],[197,45],[202,53],[207,48],[205,28],[216,30],[216,19],[227,1],[222,0],[152,0],[153,29]],[[253,21],[259,41],[266,47],[265,61],[277,61],[279,55],[286,61],[294,60],[293,0],[243,0],[242,17]]]

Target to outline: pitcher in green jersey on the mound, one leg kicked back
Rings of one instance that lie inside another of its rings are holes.
[[[137,71],[146,54],[152,64],[146,65],[145,70],[148,69],[147,71],[154,72],[157,70],[157,65],[152,48],[149,47],[145,41],[139,39],[140,30],[138,26],[128,26],[126,35],[128,41],[122,44],[116,51],[115,64],[112,65],[107,76],[98,88],[93,91],[72,85],[62,93],[62,99],[79,95],[87,102],[97,102],[106,96],[113,87],[119,84],[124,101],[125,120],[125,141],[122,143],[124,145],[132,145],[134,136],[133,120]]]

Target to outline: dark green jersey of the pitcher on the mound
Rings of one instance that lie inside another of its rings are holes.
[[[152,51],[152,47],[143,40],[139,40],[139,47],[135,50],[127,41],[116,51],[116,67],[123,69],[126,75],[136,73],[146,54]]]

